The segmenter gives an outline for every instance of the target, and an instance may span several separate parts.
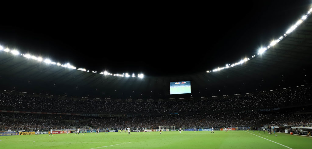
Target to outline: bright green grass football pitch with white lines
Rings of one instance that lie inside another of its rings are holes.
[[[275,137],[277,134],[277,137]],[[0,136],[0,148],[311,148],[312,137],[263,131],[131,132]]]

